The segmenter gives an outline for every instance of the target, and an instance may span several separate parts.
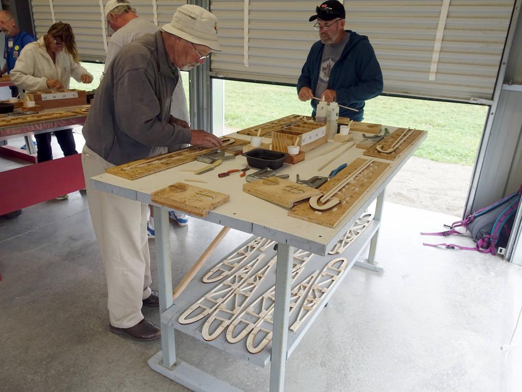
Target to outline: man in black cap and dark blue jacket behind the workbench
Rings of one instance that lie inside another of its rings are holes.
[[[383,91],[381,66],[366,36],[345,30],[346,11],[337,0],[328,0],[315,8],[319,41],[315,42],[303,65],[297,84],[299,99],[312,100],[315,116],[317,100],[336,101],[343,106],[339,116],[355,121],[363,119],[364,101]]]

